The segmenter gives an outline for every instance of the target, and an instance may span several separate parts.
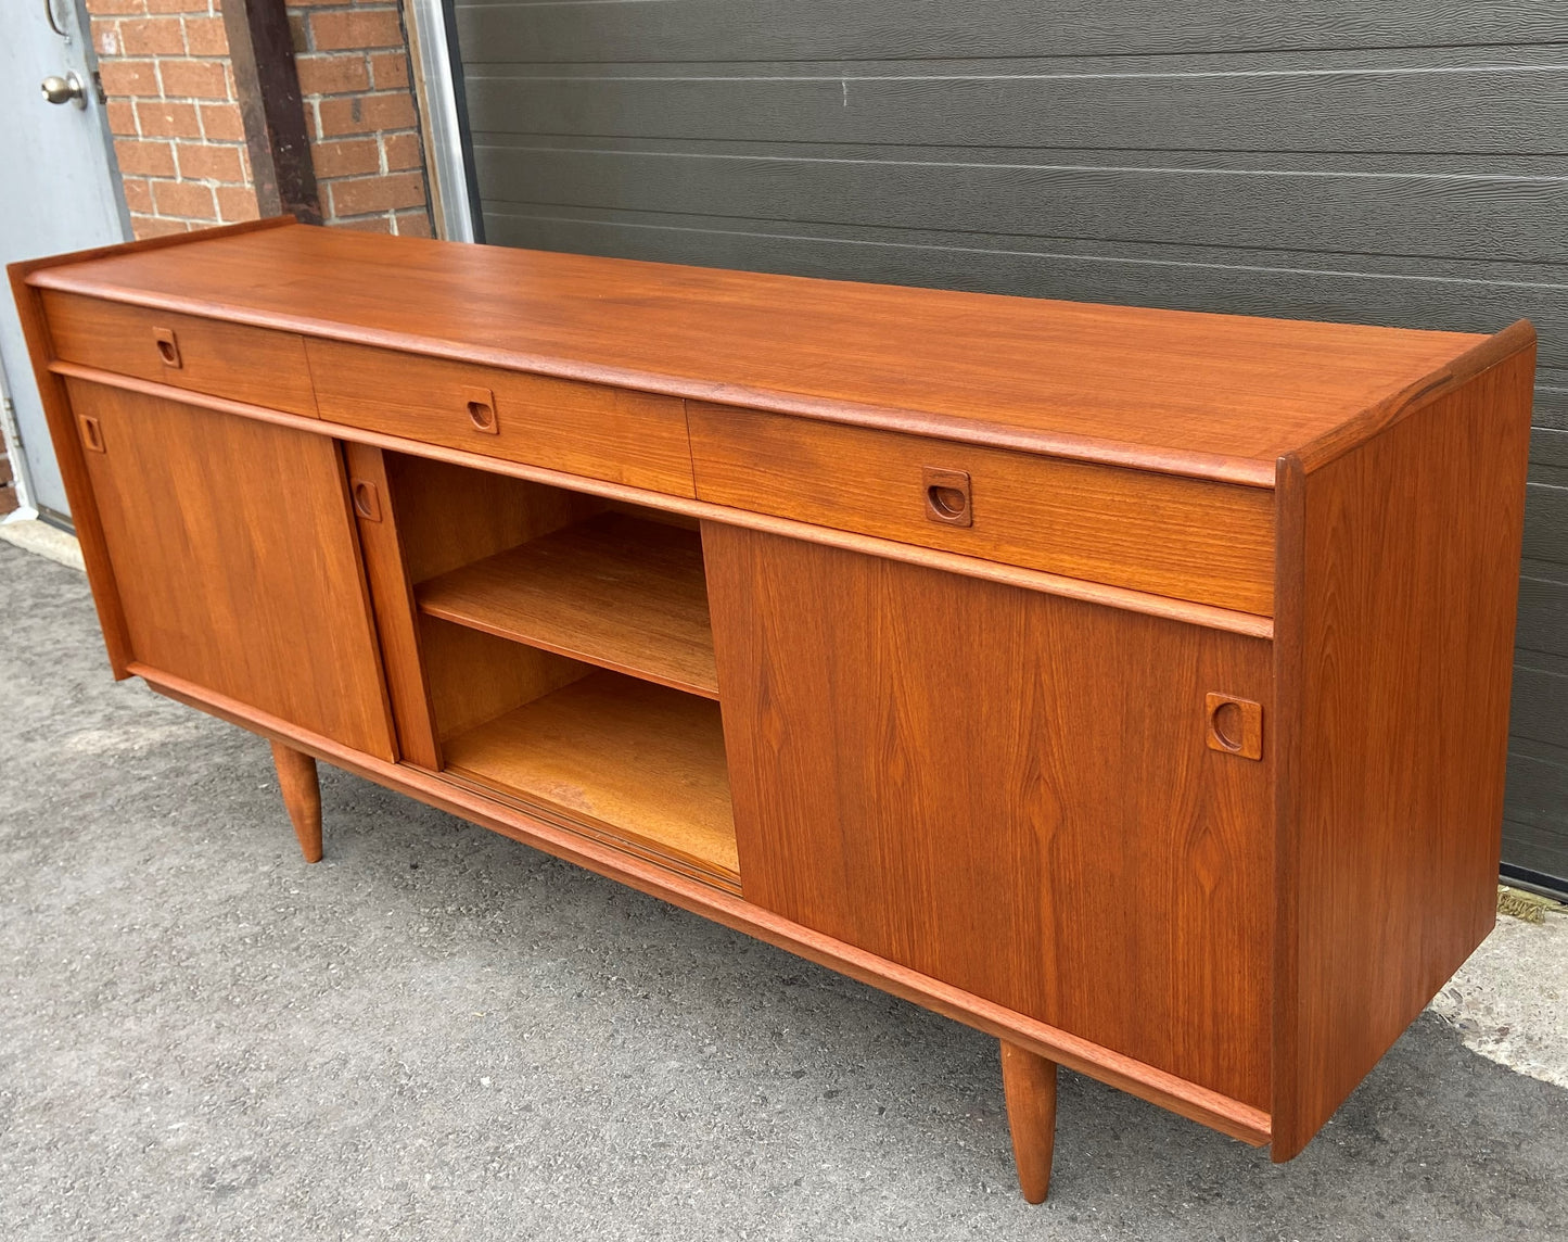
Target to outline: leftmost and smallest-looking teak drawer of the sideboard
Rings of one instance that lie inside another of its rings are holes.
[[[138,380],[315,417],[293,332],[44,290],[55,356]]]

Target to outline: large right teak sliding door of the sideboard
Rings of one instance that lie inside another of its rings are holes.
[[[1269,1107],[1270,646],[704,524],[748,900]],[[1267,734],[1264,735],[1267,742]]]

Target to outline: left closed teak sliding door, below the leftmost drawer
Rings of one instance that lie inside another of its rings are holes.
[[[336,441],[69,386],[135,663],[394,759]]]

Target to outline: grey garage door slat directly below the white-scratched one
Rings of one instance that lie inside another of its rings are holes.
[[[483,143],[483,138],[478,140]],[[1568,179],[840,160],[483,144],[480,196],[1105,242],[1562,257]],[[1223,204],[1223,210],[1217,207]]]

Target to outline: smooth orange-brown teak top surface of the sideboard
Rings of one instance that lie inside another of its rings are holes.
[[[679,397],[1272,486],[1496,337],[270,227],[31,284]]]

